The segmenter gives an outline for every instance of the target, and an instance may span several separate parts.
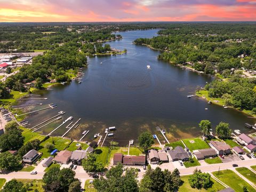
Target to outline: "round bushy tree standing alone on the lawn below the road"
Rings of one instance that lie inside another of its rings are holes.
[[[189,184],[192,188],[208,189],[212,186],[211,175],[209,173],[202,173],[201,170],[195,170],[188,178]]]

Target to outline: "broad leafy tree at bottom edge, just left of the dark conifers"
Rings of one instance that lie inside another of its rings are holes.
[[[135,169],[127,169],[124,173],[123,165],[118,163],[117,166],[111,167],[106,173],[106,179],[101,177],[93,182],[94,188],[98,191],[138,191],[138,172]]]

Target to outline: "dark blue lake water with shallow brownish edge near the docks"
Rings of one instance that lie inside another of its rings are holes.
[[[105,136],[105,128],[116,126],[114,137],[107,137],[106,141],[115,140],[122,146],[126,146],[129,139],[136,140],[146,130],[157,133],[163,141],[156,126],[167,131],[170,141],[195,137],[201,134],[198,123],[202,119],[209,119],[214,127],[223,121],[229,123],[233,130],[249,132],[244,123],[254,124],[255,119],[233,109],[208,105],[198,97],[187,98],[196,86],[204,86],[205,82],[213,80],[212,77],[159,61],[159,51],[132,44],[136,38],[150,38],[156,33],[157,30],[119,33],[123,39],[109,44],[116,49],[127,49],[126,54],[90,58],[88,67],[84,69],[82,84],[73,81],[69,85],[53,86],[51,91],[40,91],[43,97],[49,98],[43,101],[44,104],[57,103],[58,108],[29,116],[30,127],[63,110],[66,114],[60,121],[39,131],[47,134],[63,119],[73,116],[74,122],[78,118],[82,120],[67,137],[79,139],[83,131],[90,130],[84,141],[91,141],[95,133]],[[150,70],[147,65],[151,66]],[[43,106],[34,109],[38,108]],[[68,124],[53,135],[65,133]]]

